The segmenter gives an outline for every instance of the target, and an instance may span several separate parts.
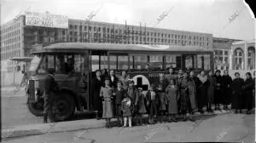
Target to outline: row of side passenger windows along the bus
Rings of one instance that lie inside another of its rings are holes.
[[[183,57],[184,67],[187,69],[205,69],[210,70],[210,55],[198,54],[188,55]],[[108,68],[108,56],[93,55],[92,58],[92,71],[97,69]],[[101,64],[99,64],[101,61]],[[141,69],[154,69],[164,67],[181,68],[182,66],[182,55],[181,54],[167,54],[166,56],[160,54],[134,54],[130,57],[125,55],[110,55],[109,66],[110,69],[116,70],[127,70],[130,69],[141,70]],[[129,64],[130,63],[130,64]]]

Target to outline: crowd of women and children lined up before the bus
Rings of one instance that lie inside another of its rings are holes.
[[[169,74],[160,74],[158,82],[151,83],[146,94],[143,89],[137,88],[134,82],[127,76],[125,71],[121,77],[116,77],[113,70],[96,71],[96,77],[92,80],[92,101],[93,109],[98,111],[96,118],[106,119],[106,127],[109,128],[110,119],[117,117],[119,126],[129,127],[132,124],[163,122],[164,116],[168,122],[177,122],[177,114],[183,116],[183,121],[188,119],[192,122],[195,110],[204,113],[231,108],[238,113],[238,110],[247,109],[250,114],[253,109],[253,91],[255,90],[254,79],[251,73],[247,72],[247,79],[244,81],[238,72],[232,80],[227,71],[223,76],[217,70],[206,73],[201,71],[195,76],[193,71],[178,71],[175,74],[169,69]],[[144,118],[148,115],[148,121]]]

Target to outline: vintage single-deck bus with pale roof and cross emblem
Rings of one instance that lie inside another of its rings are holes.
[[[34,48],[34,57],[27,71],[30,79],[27,85],[27,105],[35,116],[42,116],[44,100],[44,78],[48,68],[55,69],[58,82],[58,99],[55,100],[56,120],[72,117],[86,101],[85,112],[91,111],[91,85],[97,69],[115,70],[119,77],[127,71],[137,87],[148,90],[158,80],[160,73],[167,73],[168,67],[178,69],[213,70],[212,49],[195,46],[143,45],[116,43],[55,43]],[[79,87],[81,75],[85,75],[86,94]]]

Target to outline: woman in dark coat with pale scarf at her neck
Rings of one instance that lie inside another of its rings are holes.
[[[207,103],[207,89],[209,81],[204,71],[201,71],[197,77],[199,78],[199,86],[197,88],[198,111],[202,114],[204,113],[203,106],[206,106]]]

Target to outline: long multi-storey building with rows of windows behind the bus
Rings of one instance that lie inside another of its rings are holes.
[[[31,16],[32,15],[32,16]],[[13,57],[29,57],[34,44],[50,43],[125,43],[198,46],[213,49],[215,70],[230,69],[229,55],[236,39],[212,37],[210,33],[176,31],[147,26],[131,26],[90,20],[73,20],[64,17],[63,25],[38,24],[38,13],[25,14],[1,26],[1,60]],[[46,15],[46,16],[45,16]],[[49,19],[49,13],[44,19]],[[36,18],[35,18],[36,17]],[[62,19],[61,19],[62,20]],[[50,20],[48,20],[50,21]],[[53,20],[52,20],[53,21]],[[62,24],[63,24],[62,23]],[[42,26],[43,25],[43,26]],[[5,64],[8,71],[16,70],[14,61]]]

